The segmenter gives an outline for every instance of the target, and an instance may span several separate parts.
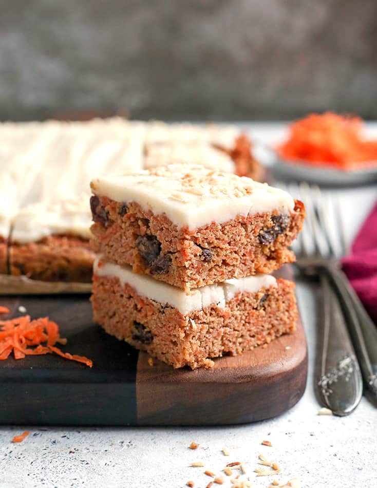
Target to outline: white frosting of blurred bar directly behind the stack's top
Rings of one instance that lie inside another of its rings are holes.
[[[234,173],[235,164],[232,158],[205,143],[157,143],[146,148],[144,167],[146,169],[168,164],[198,164],[213,170]]]

